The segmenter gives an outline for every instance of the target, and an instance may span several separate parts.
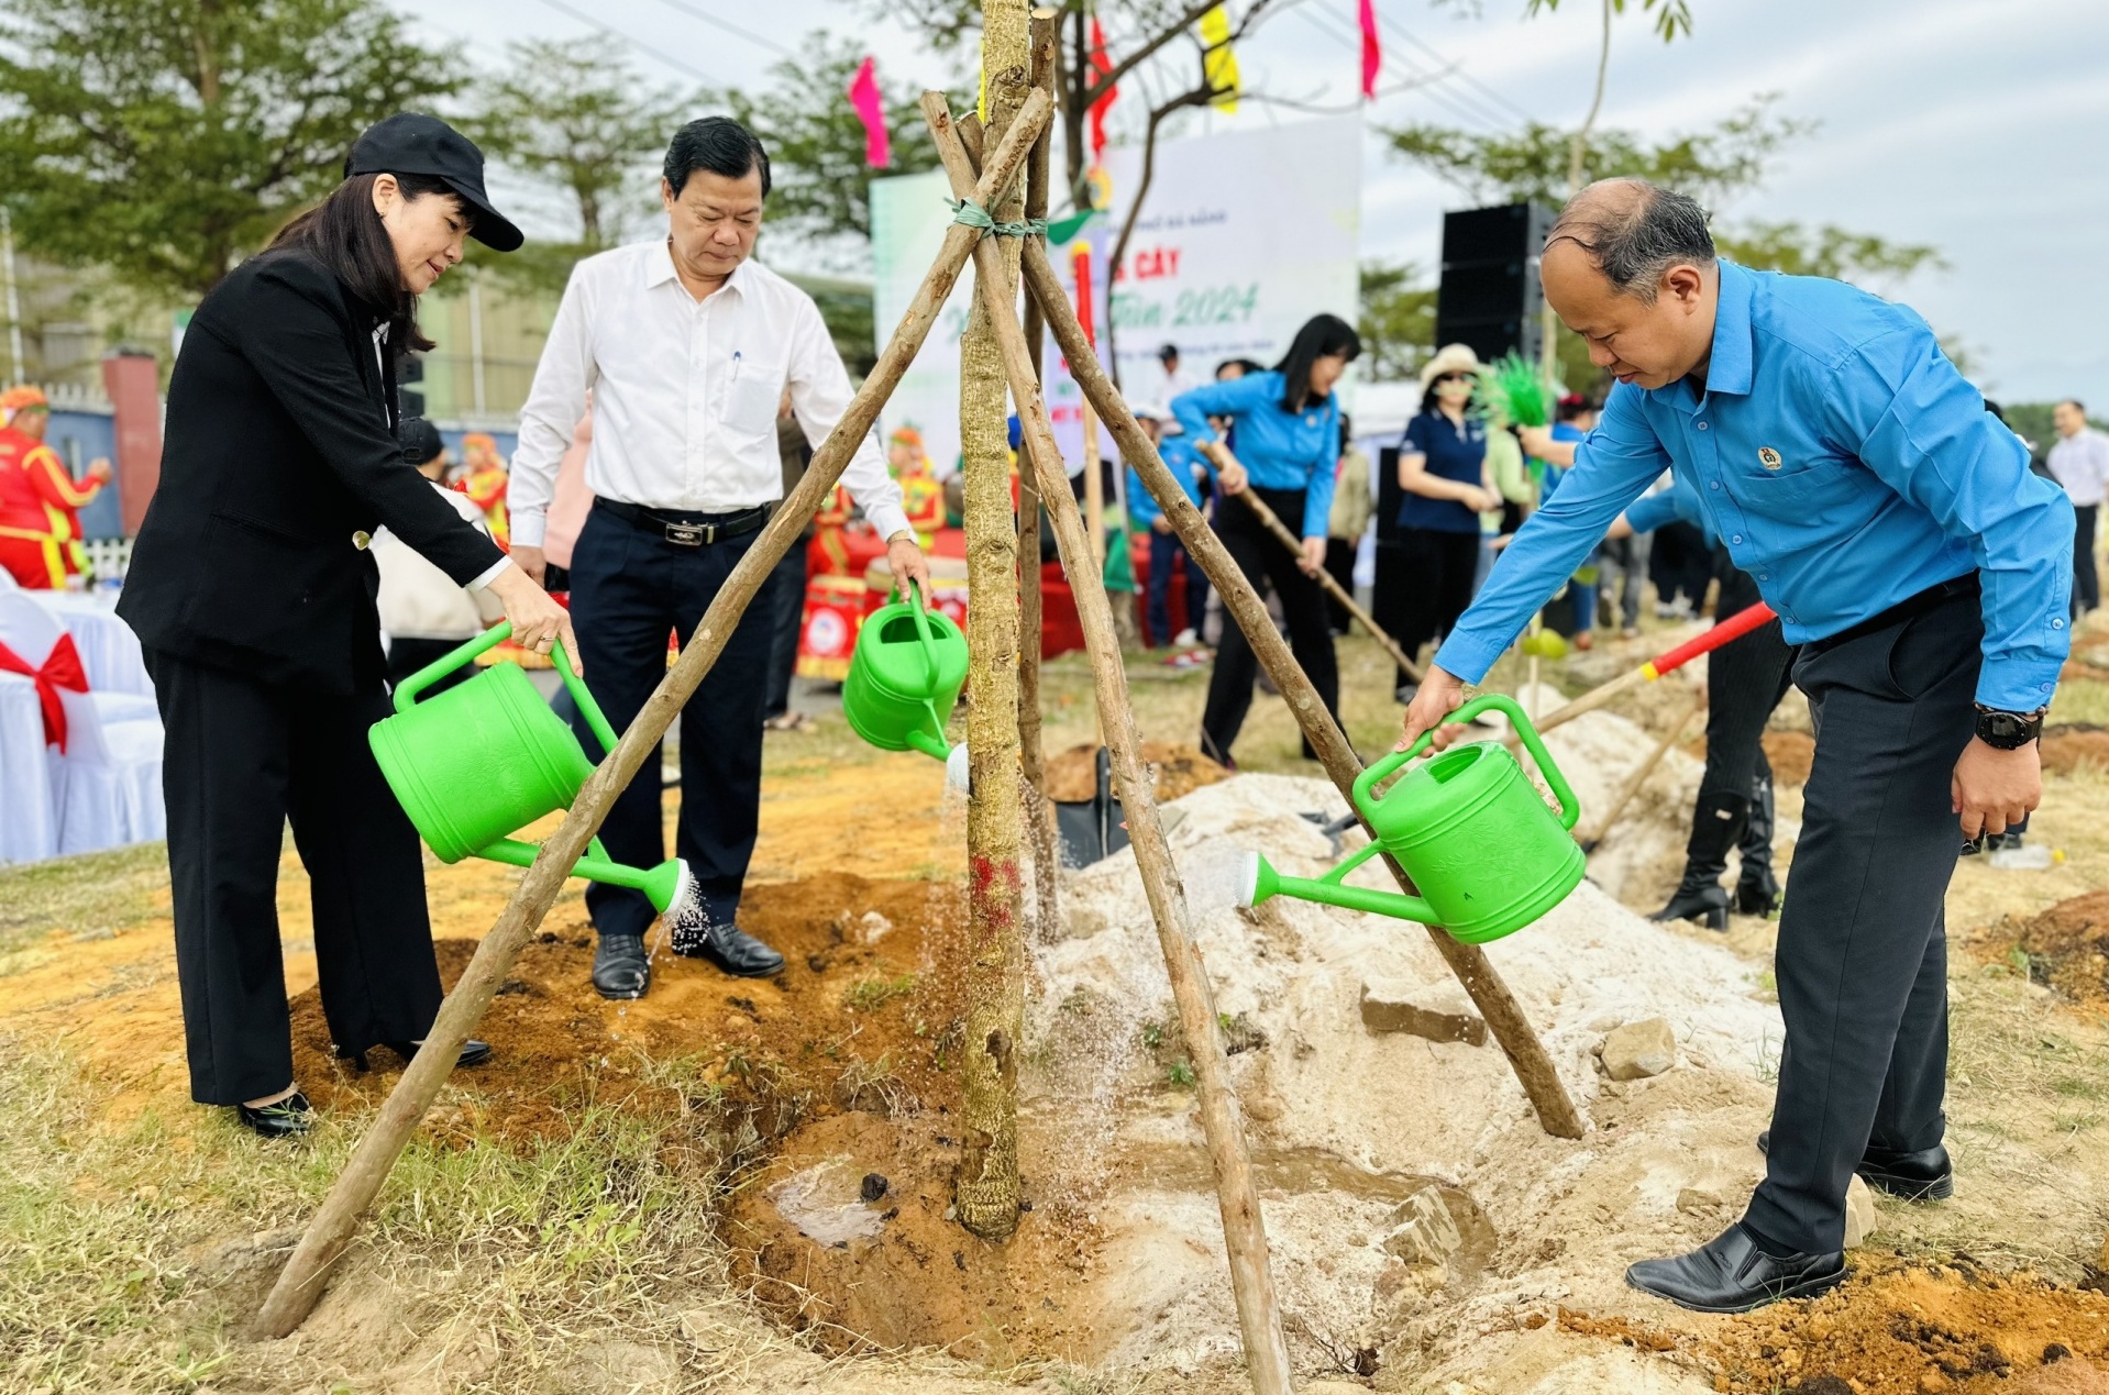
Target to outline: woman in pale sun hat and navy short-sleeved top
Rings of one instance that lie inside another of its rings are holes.
[[[1447,343],[1421,365],[1421,411],[1398,443],[1398,542],[1405,592],[1396,598],[1398,647],[1413,655],[1447,634],[1472,605],[1478,573],[1478,516],[1502,508],[1487,466],[1487,424],[1472,415],[1481,362],[1464,343]],[[1400,702],[1413,695],[1400,670]]]

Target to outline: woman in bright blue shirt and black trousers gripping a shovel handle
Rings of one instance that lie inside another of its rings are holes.
[[[1217,487],[1232,497],[1217,502],[1215,531],[1238,571],[1257,586],[1274,586],[1289,622],[1289,647],[1329,712],[1339,712],[1339,668],[1333,660],[1333,622],[1316,575],[1324,567],[1327,518],[1339,466],[1339,375],[1362,352],[1354,327],[1335,314],[1303,322],[1282,360],[1265,373],[1215,381],[1173,398],[1173,415],[1194,453],[1215,468]],[[1208,417],[1230,417],[1236,453]],[[1251,489],[1303,539],[1289,552],[1234,495]],[[1202,710],[1202,748],[1232,765],[1232,742],[1253,706],[1259,660],[1238,626],[1223,626],[1223,645],[1208,676]],[[1314,752],[1303,746],[1305,759]]]

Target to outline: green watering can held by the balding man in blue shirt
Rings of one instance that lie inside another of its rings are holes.
[[[1453,746],[1407,771],[1377,797],[1377,782],[1428,746],[1432,733],[1424,731],[1411,748],[1394,750],[1354,782],[1354,807],[1375,830],[1369,847],[1316,881],[1282,877],[1253,853],[1242,904],[1295,896],[1443,925],[1455,940],[1485,944],[1523,929],[1567,900],[1586,870],[1582,847],[1571,834],[1582,805],[1514,700],[1487,693],[1445,721],[1472,721],[1487,710],[1506,712],[1516,725],[1523,746],[1537,759],[1537,769],[1561,801],[1559,813],[1546,807],[1537,786],[1499,742]],[[1341,885],[1348,872],[1381,851],[1390,851],[1407,868],[1419,896]]]

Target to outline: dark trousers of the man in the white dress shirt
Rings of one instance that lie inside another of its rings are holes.
[[[586,514],[572,546],[572,624],[586,660],[586,687],[620,735],[666,676],[666,636],[690,634],[761,533],[702,546],[666,542],[605,508]],[[755,851],[761,811],[761,706],[776,641],[768,584],[747,607],[702,687],[681,710],[681,818],[675,851],[702,889],[704,910],[732,925]],[[586,754],[601,746],[574,721]],[[654,750],[601,826],[607,853],[628,866],[666,858],[660,820],[660,757]],[[641,936],[656,910],[643,891],[593,883],[586,910],[603,936]]]

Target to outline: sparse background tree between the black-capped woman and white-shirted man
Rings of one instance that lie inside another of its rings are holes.
[[[510,65],[477,84],[464,131],[483,154],[559,194],[576,215],[569,240],[531,238],[479,263],[561,289],[572,263],[616,247],[658,200],[652,173],[696,97],[645,86],[618,40],[523,40]]]

